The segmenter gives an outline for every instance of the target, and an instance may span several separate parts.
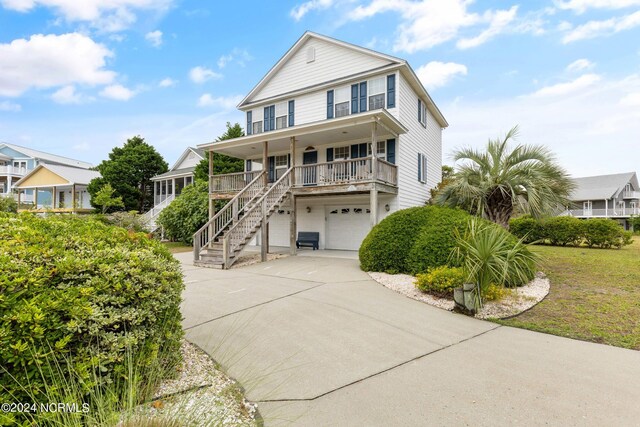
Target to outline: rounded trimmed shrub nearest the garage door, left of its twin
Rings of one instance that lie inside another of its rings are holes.
[[[403,209],[373,227],[360,246],[360,266],[364,271],[406,273],[407,256],[419,231],[429,223],[432,206]]]

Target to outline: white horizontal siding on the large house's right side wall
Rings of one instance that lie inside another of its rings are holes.
[[[421,206],[429,199],[429,190],[441,178],[442,129],[431,112],[427,112],[426,129],[418,122],[418,95],[400,75],[397,102],[400,121],[408,128],[397,146],[399,208]],[[423,101],[424,102],[424,101]],[[418,181],[418,153],[427,156],[426,183]]]

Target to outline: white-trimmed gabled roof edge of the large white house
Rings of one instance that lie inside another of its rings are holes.
[[[429,93],[427,93],[427,90],[424,88],[424,85],[422,84],[420,79],[418,79],[418,76],[416,75],[415,71],[411,68],[411,66],[407,61],[395,56],[387,55],[381,52],[377,52],[375,50],[367,49],[362,46],[357,46],[352,43],[347,43],[347,42],[337,40],[332,37],[327,37],[322,34],[317,34],[311,31],[306,31],[302,35],[302,37],[300,37],[298,41],[294,43],[294,45],[282,56],[282,58],[280,58],[280,60],[278,60],[278,62],[273,67],[271,67],[271,69],[258,82],[258,84],[253,89],[251,89],[251,91],[247,94],[247,96],[245,96],[242,99],[242,101],[240,101],[240,103],[237,105],[237,108],[242,108],[250,104],[252,102],[252,97],[258,94],[260,90],[262,90],[269,83],[269,81],[284,67],[284,65],[289,61],[289,59],[291,59],[291,57],[295,55],[296,52],[298,52],[309,39],[312,39],[312,38],[323,40],[327,43],[332,43],[334,45],[338,45],[359,53],[363,53],[384,61],[388,61],[390,66],[392,67],[395,66],[400,68],[404,77],[408,79],[409,84],[411,85],[413,90],[415,90],[418,94],[421,95],[421,97],[425,99],[427,107],[429,108],[429,111],[431,111],[431,113],[434,115],[434,117],[436,118],[440,126],[442,126],[443,128],[449,126],[449,123],[447,123],[447,120],[444,118],[442,112],[438,109],[436,104],[433,102],[433,99],[431,98]],[[312,90],[312,87],[308,89]]]

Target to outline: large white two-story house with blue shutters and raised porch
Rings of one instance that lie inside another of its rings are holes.
[[[448,124],[403,59],[306,32],[238,108],[246,136],[198,146],[246,171],[210,176],[197,264],[228,267],[252,240],[263,259],[269,244],[295,253],[303,231],[320,249],[357,250],[440,181]],[[231,201],[216,213],[216,199]]]

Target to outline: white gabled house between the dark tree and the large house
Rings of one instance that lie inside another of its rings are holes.
[[[153,208],[145,213],[151,231],[157,228],[156,219],[160,212],[176,196],[180,195],[184,187],[193,183],[196,165],[204,158],[203,150],[188,147],[168,172],[151,178],[153,181]]]

